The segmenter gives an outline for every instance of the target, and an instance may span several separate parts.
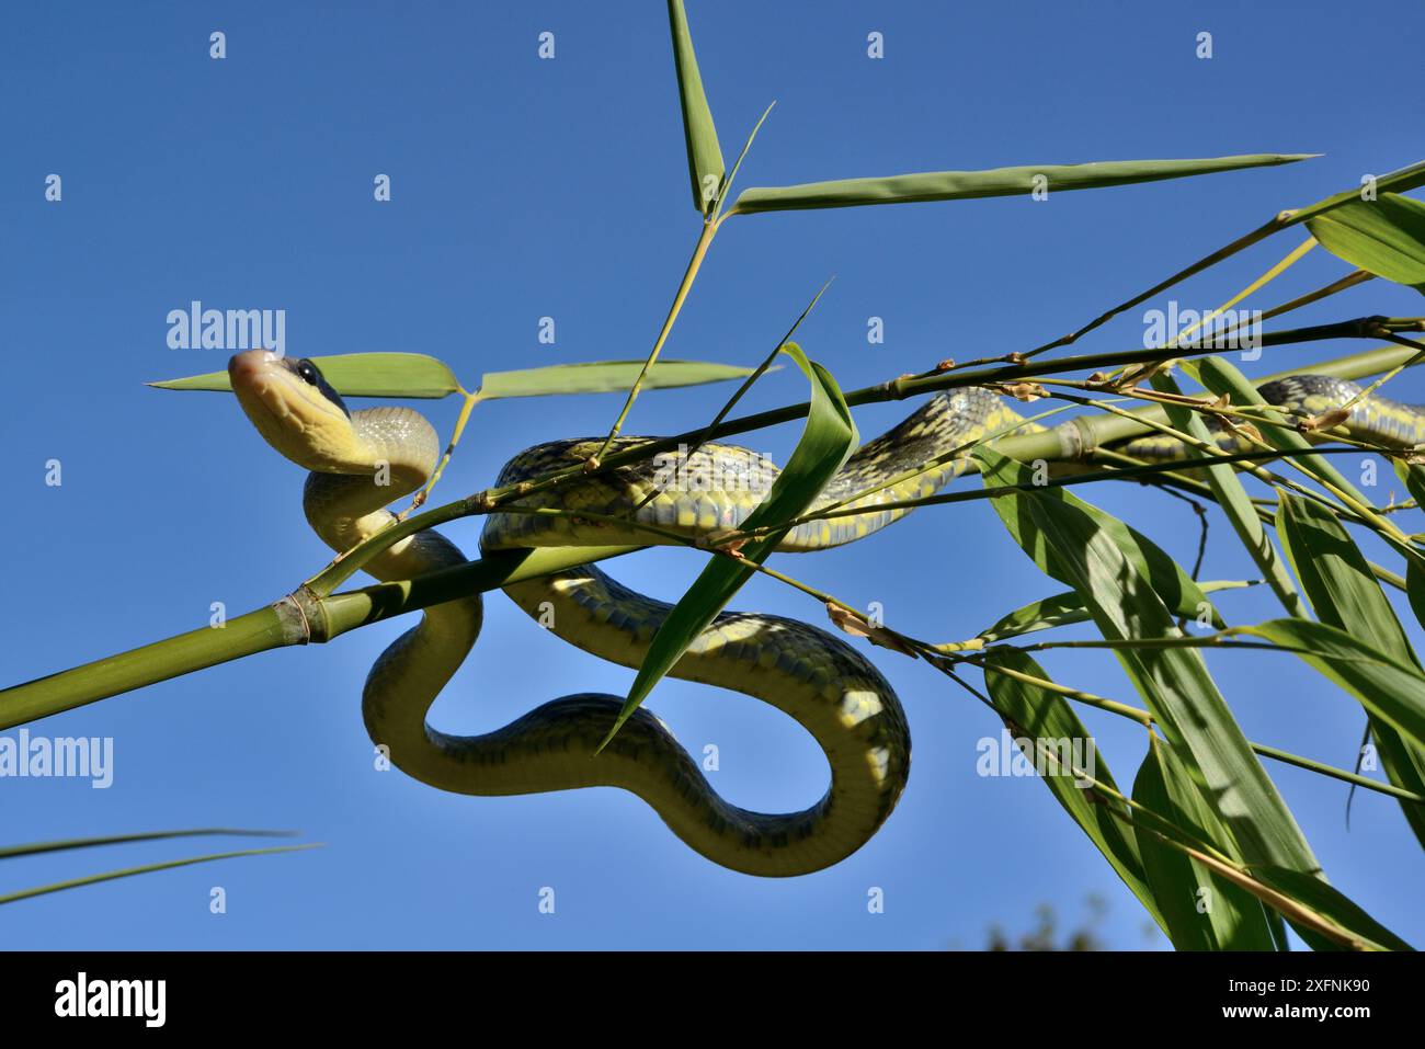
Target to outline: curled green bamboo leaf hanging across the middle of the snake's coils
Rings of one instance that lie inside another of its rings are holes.
[[[808,361],[794,342],[785,343],[782,352],[792,358],[811,381],[811,410],[791,459],[772,482],[771,490],[762,502],[742,522],[744,530],[781,526],[804,513],[856,445],[856,425],[851,419],[851,409],[846,408],[846,401],[841,395],[836,381],[831,378],[831,372],[814,361]],[[653,687],[683,657],[688,646],[727,607],[732,594],[754,572],[748,562],[761,564],[767,560],[787,532],[787,527],[778,527],[762,539],[751,540],[738,552],[738,556],[712,556],[654,634],[648,651],[643,657],[643,666],[638,667],[638,674],[628,690],[628,698],[624,700],[614,727],[608,730],[608,735],[600,747],[614,737],[614,733],[638,708]]]

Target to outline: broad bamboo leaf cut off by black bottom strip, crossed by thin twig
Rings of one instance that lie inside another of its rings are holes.
[[[1151,738],[1151,737],[1150,737]],[[1156,738],[1133,781],[1133,800],[1163,817],[1191,839],[1233,849],[1223,827],[1171,747]],[[1139,817],[1141,820],[1141,817]],[[1151,824],[1144,824],[1151,828]],[[1137,827],[1136,827],[1137,830]],[[1156,834],[1136,834],[1151,892],[1178,951],[1274,951],[1271,925],[1261,902],[1216,875]],[[1308,881],[1317,881],[1307,875]]]

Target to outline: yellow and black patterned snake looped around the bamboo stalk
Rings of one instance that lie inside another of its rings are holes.
[[[386,529],[395,520],[389,505],[420,489],[436,466],[442,446],[425,416],[399,406],[353,412],[306,358],[247,351],[229,361],[228,376],[261,438],[309,472],[302,493],[306,520],[338,553]],[[1302,410],[1322,410],[1358,392],[1355,383],[1328,376],[1263,386],[1273,403]],[[1372,395],[1352,409],[1351,423],[1405,443],[1421,439],[1425,412]],[[965,386],[933,395],[851,455],[812,507],[844,505],[858,512],[802,522],[787,532],[778,552],[824,550],[881,532],[909,512],[884,505],[933,495],[963,472],[966,459],[946,453],[1015,428],[1042,429],[990,389]],[[1218,442],[1230,439],[1226,433]],[[648,440],[620,436],[608,450]],[[497,483],[519,485],[579,466],[603,443],[586,438],[537,445],[510,459]],[[1127,448],[1144,458],[1176,455],[1157,438]],[[587,473],[570,486],[534,490],[520,499],[534,512],[494,507],[480,549],[697,539],[737,529],[775,477],[774,463],[744,448],[717,442],[680,448]],[[537,513],[550,507],[567,513]],[[611,517],[634,524],[610,523]],[[656,532],[638,524],[656,526]],[[378,580],[405,580],[463,563],[455,543],[428,529],[398,540],[365,570]],[[593,564],[502,589],[561,640],[631,668],[643,663],[673,607]],[[623,788],[707,859],[767,878],[811,874],[852,855],[878,832],[906,787],[911,733],[885,676],[842,639],[761,613],[722,611],[670,673],[761,700],[811,734],[825,754],[831,781],[802,811],[768,814],[728,802],[664,721],[643,706],[600,750],[623,707],[618,696],[564,696],[490,733],[443,733],[429,724],[428,711],[475,646],[482,619],[480,594],[430,606],[368,673],[362,688],[366,731],[395,767],[420,782],[480,797]]]

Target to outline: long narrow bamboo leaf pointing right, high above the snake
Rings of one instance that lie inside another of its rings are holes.
[[[1049,192],[1097,190],[1110,185],[1156,182],[1217,171],[1235,171],[1274,164],[1292,164],[1312,154],[1260,153],[1203,160],[1124,160],[1096,164],[1039,164],[988,171],[925,171],[888,178],[842,178],[832,182],[754,187],[744,190],[732,211],[801,211],[807,208],[854,208],[868,204],[916,204],[962,201],[980,197],[1013,197],[1045,188]]]

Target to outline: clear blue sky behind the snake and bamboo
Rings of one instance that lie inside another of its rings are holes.
[[[1325,3],[688,7],[730,158],[778,101],[742,187],[1325,155],[1045,202],[735,218],[667,346],[673,358],[754,363],[832,274],[799,338],[846,389],[946,356],[1027,349],[1281,208],[1421,157],[1425,19],[1415,0],[1369,14]],[[53,3],[0,17],[4,683],[194,629],[212,601],[229,614],[258,607],[328,559],[302,520],[301,470],[259,440],[228,395],[142,385],[227,359],[170,349],[170,309],[192,299],[285,309],[289,353],[420,351],[475,385],[486,371],[646,355],[698,232],[661,3]],[[222,61],[208,57],[214,30],[227,33]],[[549,61],[536,56],[544,30],[556,34]],[[871,31],[885,34],[882,60],[866,57]],[[1194,54],[1200,31],[1213,34],[1210,60]],[[51,172],[63,177],[58,204],[44,200]],[[392,178],[390,202],[372,198],[378,174]],[[1300,239],[1274,238],[1188,284],[1180,305],[1217,305]],[[1318,249],[1255,305],[1345,269]],[[1292,324],[1418,312],[1415,292],[1371,282]],[[537,341],[546,315],[557,325],[553,346]],[[884,345],[868,345],[869,316],[884,318]],[[1082,348],[1141,338],[1133,314]],[[1271,351],[1255,369],[1364,348]],[[1405,375],[1394,389],[1425,401],[1422,382]],[[648,393],[628,429],[684,430],[728,392]],[[784,369],[747,408],[804,396],[802,378]],[[480,406],[443,492],[483,487],[529,445],[606,430],[618,403],[603,395]],[[449,432],[457,406],[418,408]],[[871,436],[909,408],[856,418]],[[797,430],[747,443],[784,460]],[[48,459],[63,463],[61,487],[44,485]],[[1382,470],[1382,502],[1391,480]],[[1191,562],[1197,524],[1184,505],[1126,486],[1080,492]],[[447,534],[475,552],[475,522]],[[611,570],[671,600],[700,563],[661,550]],[[945,640],[1060,589],[982,502],[778,564],[859,606],[881,601],[892,626]],[[1214,516],[1204,577],[1253,574]],[[818,604],[761,579],[735,606],[822,621]],[[1278,614],[1270,594],[1221,607],[1240,623]],[[503,594],[486,609],[484,636],[433,711],[440,727],[484,731],[556,696],[627,690],[633,671],[539,630]],[[832,869],[764,881],[704,861],[614,790],[467,798],[372,771],[361,684],[408,626],[264,654],[34,727],[114,737],[114,785],[0,781],[0,842],[237,825],[295,828],[328,844],[4,908],[0,945],[979,946],[993,922],[1027,929],[1043,902],[1077,924],[1086,896],[1099,894],[1107,944],[1166,946],[1144,934],[1146,915],[1043,784],[976,775],[976,743],[999,724],[921,663],[872,651],[915,737],[911,782],[886,827]],[[1134,698],[1107,656],[1046,664],[1062,681]],[[1349,765],[1362,715],[1324,678],[1260,653],[1213,654],[1210,667],[1250,738]],[[738,804],[788,811],[825,788],[815,744],[764,704],[670,680],[650,707],[690,748],[718,744],[714,782]],[[1084,720],[1120,782],[1131,782],[1141,731],[1092,711]],[[1425,859],[1395,804],[1358,795],[1347,831],[1342,784],[1280,764],[1270,772],[1334,884],[1425,941]],[[0,892],[208,849],[170,842],[13,861],[0,868]],[[215,885],[227,891],[225,915],[208,911]],[[556,891],[554,915],[539,914],[542,887]],[[868,914],[869,887],[885,891],[885,914]]]

